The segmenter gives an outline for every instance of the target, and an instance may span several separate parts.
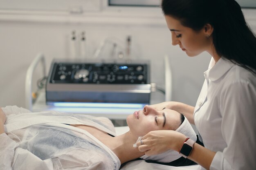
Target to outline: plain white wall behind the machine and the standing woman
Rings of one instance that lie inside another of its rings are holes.
[[[256,30],[256,10],[246,15]],[[152,21],[152,22],[151,22]],[[151,82],[164,87],[163,58],[168,54],[173,70],[174,101],[194,105],[204,81],[210,56],[202,53],[188,57],[178,46],[171,45],[171,34],[164,18],[123,17],[119,15],[47,16],[0,13],[0,106],[25,107],[25,75],[38,52],[46,57],[47,71],[53,58],[70,57],[70,35],[86,31],[88,56],[109,36],[125,40],[132,36],[134,58],[151,61]],[[255,31],[256,32],[256,31]],[[40,69],[35,73],[40,77]],[[157,95],[163,99],[161,94]]]

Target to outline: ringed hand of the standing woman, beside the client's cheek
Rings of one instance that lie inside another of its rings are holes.
[[[137,142],[140,152],[145,152],[145,155],[157,155],[167,150],[179,151],[180,146],[183,144],[186,136],[174,130],[156,130],[148,132],[141,142]]]

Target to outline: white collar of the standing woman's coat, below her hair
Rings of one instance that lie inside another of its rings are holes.
[[[216,62],[216,64],[209,70],[209,79],[211,81],[220,79],[220,77],[227,73],[227,71],[229,71],[232,66],[234,66],[234,63],[221,57],[218,62]]]

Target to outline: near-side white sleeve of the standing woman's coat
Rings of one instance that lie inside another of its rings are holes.
[[[227,147],[217,152],[210,170],[256,169],[256,84],[236,81],[222,89],[221,131]]]

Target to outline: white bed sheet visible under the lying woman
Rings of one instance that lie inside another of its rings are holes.
[[[128,132],[128,126],[115,127],[116,134],[121,135]],[[200,165],[192,166],[166,166],[157,163],[147,163],[144,160],[131,161],[126,163],[120,170],[205,170]]]

